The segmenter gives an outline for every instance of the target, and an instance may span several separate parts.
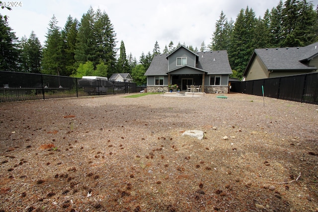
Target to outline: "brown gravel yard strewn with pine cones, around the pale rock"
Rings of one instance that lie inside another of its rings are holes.
[[[0,103],[0,212],[318,212],[318,105],[124,96]]]

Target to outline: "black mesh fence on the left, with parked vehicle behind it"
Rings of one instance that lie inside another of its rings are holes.
[[[136,83],[0,71],[0,102],[135,93]]]

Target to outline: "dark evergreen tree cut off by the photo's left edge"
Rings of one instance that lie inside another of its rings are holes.
[[[2,71],[20,71],[17,62],[18,39],[11,30],[5,18],[0,14],[0,70]]]

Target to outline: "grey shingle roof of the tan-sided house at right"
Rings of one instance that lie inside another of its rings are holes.
[[[316,67],[307,65],[307,61],[318,55],[318,43],[305,47],[255,49],[243,73],[246,76],[256,56],[260,58],[268,71],[313,71]]]

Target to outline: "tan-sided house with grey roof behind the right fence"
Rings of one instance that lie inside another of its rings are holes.
[[[316,72],[318,43],[305,47],[255,49],[243,73],[244,80]]]

